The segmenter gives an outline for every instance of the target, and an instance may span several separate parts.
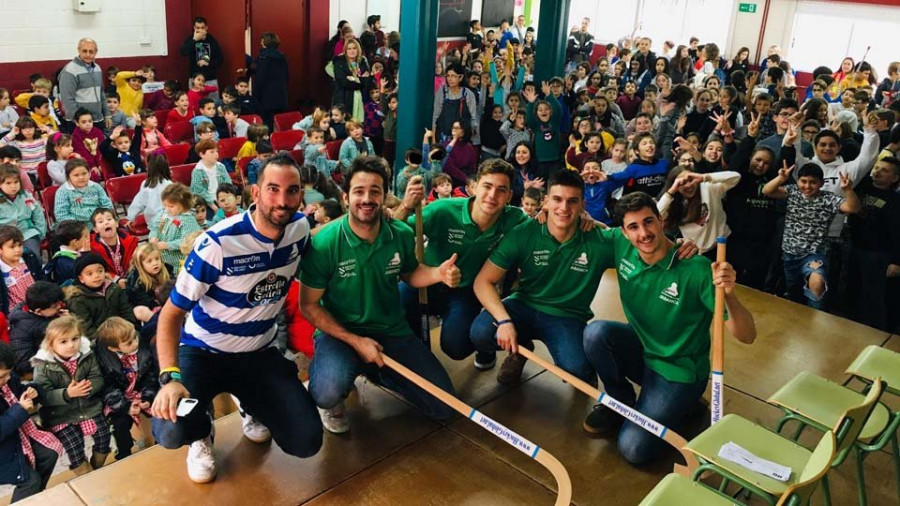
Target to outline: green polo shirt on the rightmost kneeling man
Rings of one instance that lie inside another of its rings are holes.
[[[676,258],[677,248],[647,265],[628,239],[615,240],[619,297],[628,323],[644,345],[648,367],[669,381],[709,376],[709,326],[715,287],[709,259]]]

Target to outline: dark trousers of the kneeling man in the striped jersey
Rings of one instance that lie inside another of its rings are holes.
[[[273,347],[248,353],[212,353],[181,346],[178,363],[184,386],[199,401],[176,422],[153,419],[153,436],[165,448],[178,448],[210,432],[207,406],[228,392],[241,409],[269,428],[285,453],[311,457],[322,447],[322,421],[316,405],[297,377],[297,365]]]

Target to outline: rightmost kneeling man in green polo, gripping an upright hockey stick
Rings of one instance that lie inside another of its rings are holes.
[[[753,316],[734,292],[728,263],[676,258],[663,234],[656,202],[646,193],[623,197],[615,208],[624,236],[614,241],[619,296],[628,323],[595,321],[584,350],[606,392],[665,426],[675,426],[697,404],[709,379],[709,328],[716,287],[725,289],[726,327],[738,340],[756,338]],[[641,385],[636,397],[629,381]],[[593,435],[614,433],[623,418],[595,406],[584,422]],[[652,460],[665,443],[635,424],[618,434],[619,452],[632,464]]]

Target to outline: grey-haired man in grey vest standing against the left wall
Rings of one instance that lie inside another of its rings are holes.
[[[103,72],[94,61],[96,57],[97,43],[93,39],[81,39],[78,56],[59,73],[59,97],[69,122],[74,122],[75,111],[82,107],[90,111],[94,123],[102,122],[109,115]]]

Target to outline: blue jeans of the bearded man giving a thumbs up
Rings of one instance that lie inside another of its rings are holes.
[[[384,347],[385,355],[434,383],[441,390],[455,394],[453,383],[450,382],[450,376],[444,370],[444,366],[416,336],[410,334],[405,337],[373,335],[368,337]],[[373,382],[399,393],[432,418],[444,421],[456,414],[451,407],[393,369],[387,366],[379,369],[375,364],[363,363],[350,345],[325,333],[316,335],[315,353],[309,366],[309,393],[319,407],[330,409],[337,406],[353,389],[353,381],[360,374],[365,374]]]

